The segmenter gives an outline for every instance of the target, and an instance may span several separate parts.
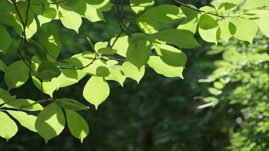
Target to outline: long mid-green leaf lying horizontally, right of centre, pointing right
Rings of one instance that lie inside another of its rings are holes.
[[[179,29],[163,30],[152,34],[152,36],[160,41],[174,44],[180,48],[191,49],[196,46],[200,46],[192,35],[188,33],[183,33]]]

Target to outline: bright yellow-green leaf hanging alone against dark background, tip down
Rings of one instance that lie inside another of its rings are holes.
[[[101,104],[110,94],[110,88],[107,82],[102,77],[92,76],[83,90],[84,98],[95,105],[95,109]]]

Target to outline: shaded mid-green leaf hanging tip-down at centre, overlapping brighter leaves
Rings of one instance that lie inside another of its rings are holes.
[[[151,46],[148,41],[143,41],[137,45],[130,44],[127,50],[127,58],[139,70],[145,65],[151,54]]]

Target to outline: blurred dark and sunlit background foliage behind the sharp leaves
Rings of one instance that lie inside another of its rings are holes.
[[[125,15],[134,18],[128,2],[124,1]],[[197,8],[210,3],[181,2]],[[155,0],[154,6],[161,4],[176,5],[173,1]],[[58,34],[62,44],[59,58],[65,59],[90,50],[85,36],[96,43],[110,41],[120,32],[116,7],[104,12],[104,18],[105,23],[84,19],[79,34],[54,20],[39,27],[33,38],[38,39],[46,31]],[[180,21],[161,24],[160,30],[177,28],[179,24]],[[11,27],[4,27],[13,37],[8,55],[0,54],[9,65],[20,37]],[[129,27],[139,31],[135,22],[130,22]],[[253,45],[231,39],[227,44],[220,40],[215,46],[195,36],[202,47],[183,49],[188,57],[184,80],[164,77],[146,66],[139,85],[128,79],[122,88],[109,81],[110,96],[98,110],[82,96],[89,76],[55,92],[55,98],[76,99],[90,106],[88,111],[79,112],[90,128],[82,144],[67,126],[45,144],[37,133],[18,124],[19,131],[12,139],[0,139],[1,150],[269,150],[268,38],[257,34]],[[25,51],[25,57],[34,53],[27,47]],[[4,79],[4,72],[0,76]],[[0,87],[7,89],[4,81]],[[10,93],[18,94],[17,98],[42,99],[31,79]],[[214,107],[201,108],[208,103]]]

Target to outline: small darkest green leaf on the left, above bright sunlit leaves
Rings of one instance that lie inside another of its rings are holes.
[[[62,73],[62,71],[51,61],[46,60],[42,62],[37,68],[38,75],[37,78],[50,81],[52,78],[57,78]]]

